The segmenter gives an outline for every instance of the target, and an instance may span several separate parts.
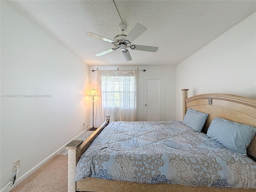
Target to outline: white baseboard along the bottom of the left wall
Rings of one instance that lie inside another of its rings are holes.
[[[86,130],[83,130],[80,134],[82,134],[83,132],[85,132]],[[78,134],[77,136],[79,136],[80,134]],[[74,138],[76,138],[77,136],[75,136]],[[74,138],[72,140],[74,140]],[[71,142],[72,140],[70,140],[69,142]],[[46,159],[44,159],[42,162],[40,162],[39,164],[37,164],[36,166],[34,166],[32,169],[30,169],[28,172],[26,172],[24,175],[18,177],[17,181],[15,182],[13,188],[20,184],[22,181],[24,181],[26,178],[28,178],[28,176],[30,176],[32,173],[34,173],[36,170],[38,170],[41,166],[43,166],[46,162],[48,162],[51,158],[53,158],[60,150],[62,150],[62,148],[64,148],[69,142],[67,142],[65,145],[63,145],[61,148],[59,148],[58,150],[56,150],[53,154],[51,154],[50,156],[48,156]]]

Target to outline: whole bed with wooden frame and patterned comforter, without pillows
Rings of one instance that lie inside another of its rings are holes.
[[[190,110],[207,113],[202,132],[186,126],[185,119],[134,125],[108,124],[106,116],[87,140],[68,144],[68,192],[256,191],[256,136],[246,149],[248,158],[204,134],[216,117],[255,127],[256,100],[227,94],[187,98],[187,92],[182,90],[183,117]]]

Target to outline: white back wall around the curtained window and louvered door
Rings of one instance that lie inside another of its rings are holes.
[[[139,70],[138,76],[138,110],[137,120],[143,120],[143,81],[144,76],[163,76],[164,77],[164,121],[175,120],[175,66],[91,66],[90,70]],[[96,88],[96,72],[90,72],[91,88]],[[91,115],[92,121],[92,115]],[[90,123],[92,124],[92,122]]]

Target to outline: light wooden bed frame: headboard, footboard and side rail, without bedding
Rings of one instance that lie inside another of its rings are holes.
[[[188,108],[208,113],[208,118],[202,132],[206,133],[210,122],[215,117],[225,118],[242,124],[256,127],[256,100],[228,94],[200,94],[188,98],[188,89],[182,90],[183,118]],[[74,182],[76,164],[83,152],[92,143],[94,138],[107,126],[110,115],[106,115],[106,121],[84,142],[74,140],[66,148],[68,149],[68,192],[256,192],[255,189],[242,188],[213,188],[193,187],[171,184],[143,184],[135,182],[122,182],[97,178],[84,178]],[[250,158],[256,160],[256,136],[247,148]]]

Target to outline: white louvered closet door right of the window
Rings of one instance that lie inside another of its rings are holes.
[[[144,121],[163,120],[163,77],[144,77]]]

